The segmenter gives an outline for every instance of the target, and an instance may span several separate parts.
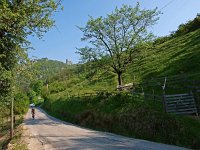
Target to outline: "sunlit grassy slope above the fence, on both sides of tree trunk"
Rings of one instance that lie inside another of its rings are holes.
[[[97,90],[114,91],[117,86],[116,74],[110,70],[85,64],[73,66],[57,74],[49,87],[56,84],[65,87],[60,95],[95,92]],[[82,69],[80,69],[82,68]],[[160,77],[191,76],[200,73],[200,30],[172,38],[161,44],[151,44],[141,50],[123,75],[123,82],[146,82]],[[198,78],[198,76],[196,76]],[[195,78],[195,76],[194,76]],[[159,82],[164,83],[164,78]],[[161,86],[158,87],[161,89]],[[55,92],[54,92],[55,93]]]

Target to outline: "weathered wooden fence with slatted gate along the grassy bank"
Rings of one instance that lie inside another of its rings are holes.
[[[168,113],[198,115],[200,113],[200,87],[197,85],[199,84],[200,81],[186,80],[185,76],[169,79],[165,77],[157,81],[154,79],[154,81],[148,81],[146,83],[132,84],[132,87],[129,90],[125,88],[125,91],[127,94],[142,96],[144,101],[153,100],[163,103],[163,109]],[[136,88],[140,90],[138,91]],[[160,90],[158,91],[158,89]],[[124,93],[125,91],[119,90],[116,93]],[[191,94],[192,92],[193,94]],[[103,90],[93,93],[71,95],[69,97],[90,97],[97,96],[100,93],[107,93],[108,95],[116,94],[115,92],[108,93]]]

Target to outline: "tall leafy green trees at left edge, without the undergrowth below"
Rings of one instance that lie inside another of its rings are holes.
[[[41,38],[53,25],[60,1],[0,1],[0,102],[10,102],[18,90],[16,78],[28,62],[29,35]],[[19,96],[20,97],[20,96]],[[12,113],[12,111],[11,111]],[[12,120],[12,118],[11,118]]]

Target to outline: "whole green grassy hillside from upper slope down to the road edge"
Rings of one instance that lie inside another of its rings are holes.
[[[148,81],[150,86],[143,84],[143,90],[148,93],[154,89],[160,95],[163,77],[168,77],[167,92],[190,92],[182,85],[182,79],[200,80],[200,30],[158,43],[141,50],[123,75],[124,83]],[[117,93],[116,85],[116,75],[110,70],[91,64],[68,66],[52,77],[48,89],[43,89],[43,107],[56,117],[82,126],[200,148],[198,119],[166,114],[162,102],[144,101],[143,95]],[[104,92],[97,96],[81,95],[96,91]]]

